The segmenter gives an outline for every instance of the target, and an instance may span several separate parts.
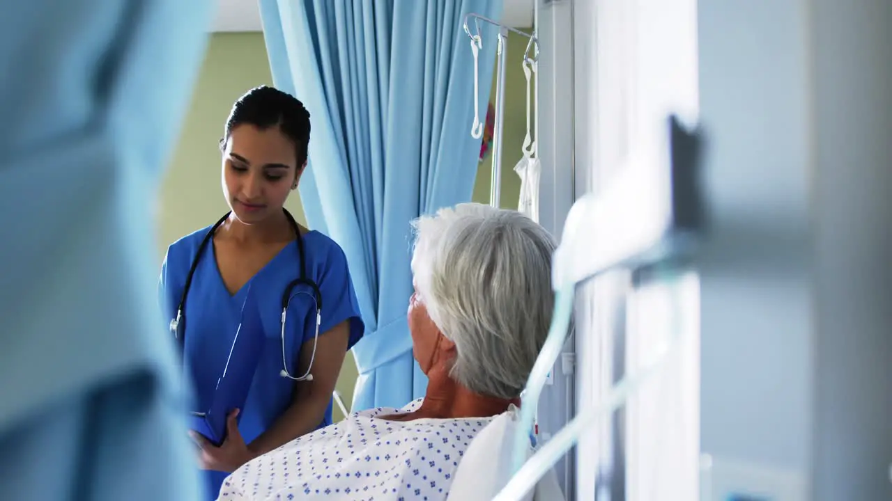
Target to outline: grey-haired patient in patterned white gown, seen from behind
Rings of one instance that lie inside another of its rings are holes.
[[[551,235],[480,204],[414,223],[412,353],[425,398],[351,415],[260,456],[219,499],[447,497],[475,434],[518,396],[548,334]]]

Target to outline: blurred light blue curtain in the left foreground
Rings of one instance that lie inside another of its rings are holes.
[[[0,497],[200,498],[153,206],[207,0],[2,0]]]

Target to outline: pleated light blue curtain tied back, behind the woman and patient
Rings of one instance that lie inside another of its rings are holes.
[[[260,0],[273,80],[310,110],[301,201],[310,226],[343,246],[366,322],[353,410],[424,395],[406,323],[409,221],[471,199],[480,141],[470,136],[474,59],[461,24],[467,12],[500,19],[501,4]],[[484,29],[482,120],[495,40]]]

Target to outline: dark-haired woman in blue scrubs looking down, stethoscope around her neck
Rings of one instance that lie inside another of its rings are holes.
[[[332,423],[335,381],[363,332],[343,250],[283,207],[309,142],[300,101],[268,86],[244,94],[220,140],[231,211],[170,245],[161,267],[161,305],[199,402],[222,374],[249,290],[260,308],[266,341],[244,408],[219,447],[194,436],[210,499],[253,457]]]

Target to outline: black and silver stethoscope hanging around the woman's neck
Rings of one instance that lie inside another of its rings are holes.
[[[303,253],[303,238],[301,237],[300,229],[297,226],[297,221],[294,220],[291,213],[288,212],[287,209],[283,209],[285,211],[285,217],[288,218],[288,223],[291,225],[294,230],[294,234],[297,236],[297,253],[298,257],[301,259],[301,275],[294,279],[291,283],[285,287],[285,292],[282,294],[282,316],[280,318],[281,324],[281,338],[282,338],[282,371],[279,373],[282,377],[286,377],[293,381],[313,381],[313,374],[310,374],[310,370],[313,368],[313,361],[316,359],[316,345],[319,339],[319,325],[322,324],[322,293],[319,292],[319,286],[317,283],[313,282],[310,278],[307,277],[306,271],[306,259],[304,258]],[[189,267],[189,275],[186,275],[186,286],[183,287],[183,295],[179,300],[179,306],[177,307],[177,316],[170,321],[170,332],[173,333],[174,337],[177,338],[180,342],[180,345],[186,346],[186,298],[189,295],[189,287],[192,286],[192,279],[195,275],[195,268],[198,267],[198,263],[202,260],[202,253],[204,249],[208,246],[208,242],[211,242],[211,238],[213,238],[214,234],[217,232],[217,228],[226,222],[227,218],[231,212],[227,212],[226,216],[220,218],[217,223],[211,227],[211,231],[208,234],[204,235],[204,239],[202,240],[201,245],[198,246],[198,252],[195,254],[195,257],[192,259],[192,266]],[[285,321],[288,316],[288,304],[291,302],[291,299],[297,294],[307,294],[308,292],[295,292],[292,293],[294,288],[298,285],[306,285],[310,287],[313,294],[310,296],[313,302],[316,305],[316,333],[313,335],[313,352],[310,355],[310,366],[307,367],[307,372],[305,372],[300,377],[294,377],[288,372],[288,362],[287,357],[285,356]],[[184,354],[185,355],[185,354]]]

